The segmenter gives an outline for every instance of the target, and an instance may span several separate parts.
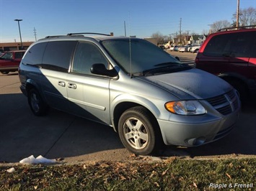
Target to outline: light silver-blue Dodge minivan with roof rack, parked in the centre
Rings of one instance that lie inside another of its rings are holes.
[[[50,107],[107,124],[142,155],[220,139],[240,109],[229,83],[138,38],[45,37],[25,53],[19,79],[36,116]]]

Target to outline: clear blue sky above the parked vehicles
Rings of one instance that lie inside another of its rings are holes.
[[[256,8],[256,0],[239,6]],[[180,29],[202,34],[213,22],[232,23],[236,11],[237,0],[0,0],[0,42],[20,42],[14,19],[22,19],[22,42],[74,32],[144,38]]]

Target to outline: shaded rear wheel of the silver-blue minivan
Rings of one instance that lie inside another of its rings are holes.
[[[35,116],[45,116],[48,111],[48,105],[43,101],[37,90],[31,89],[27,96],[28,104]]]

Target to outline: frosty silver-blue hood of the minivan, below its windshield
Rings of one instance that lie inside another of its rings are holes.
[[[221,78],[195,68],[177,73],[146,76],[143,80],[169,91],[181,100],[213,98],[232,88]]]

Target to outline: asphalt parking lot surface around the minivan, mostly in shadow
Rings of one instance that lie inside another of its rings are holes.
[[[170,53],[193,65],[194,54]],[[66,162],[131,159],[109,126],[53,109],[48,116],[33,116],[19,90],[17,73],[0,74],[0,106],[0,163],[19,162],[30,155]],[[255,106],[255,100],[243,106],[234,130],[224,139],[194,148],[168,146],[158,157],[255,157]]]

